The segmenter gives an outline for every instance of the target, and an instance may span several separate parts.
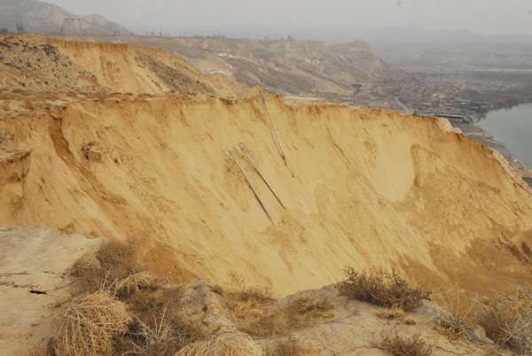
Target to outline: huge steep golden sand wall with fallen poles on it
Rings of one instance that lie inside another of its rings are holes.
[[[346,266],[486,294],[528,278],[532,198],[487,147],[445,120],[269,103],[288,166],[261,97],[85,101],[12,120],[10,144],[33,151],[0,226],[136,236],[161,274],[225,283],[234,272],[277,295],[336,282]]]

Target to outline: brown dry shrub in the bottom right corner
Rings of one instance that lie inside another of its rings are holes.
[[[513,352],[532,353],[532,293],[519,288],[515,294],[491,300],[478,315],[486,336]]]

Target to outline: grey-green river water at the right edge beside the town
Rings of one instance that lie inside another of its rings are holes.
[[[505,143],[516,159],[532,169],[532,104],[488,112],[476,125]]]

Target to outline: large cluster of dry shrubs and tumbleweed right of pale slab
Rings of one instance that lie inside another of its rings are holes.
[[[107,241],[71,272],[78,292],[59,321],[58,355],[173,355],[203,337],[182,312],[182,290],[143,271],[138,244]]]

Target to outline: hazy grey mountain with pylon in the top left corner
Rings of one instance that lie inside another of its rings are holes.
[[[81,21],[65,19],[81,19]],[[126,28],[101,15],[80,17],[54,4],[37,0],[0,0],[0,28],[15,31],[18,23],[27,32],[36,33],[131,34]]]

